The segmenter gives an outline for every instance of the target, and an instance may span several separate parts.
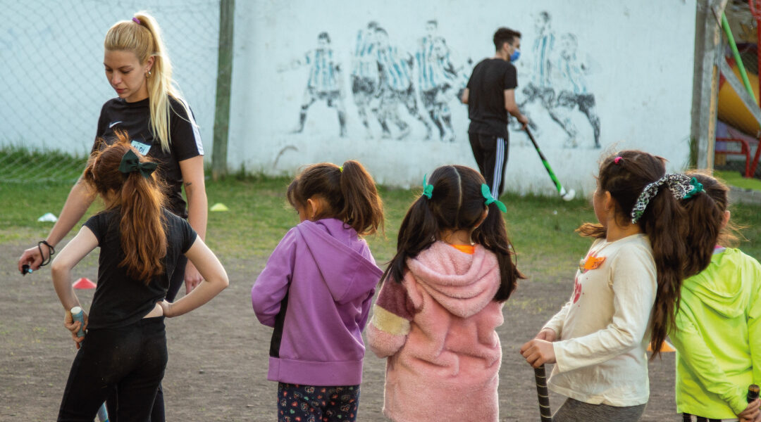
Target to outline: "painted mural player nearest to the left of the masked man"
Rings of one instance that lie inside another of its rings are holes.
[[[435,35],[437,27],[436,20],[428,20],[425,23],[426,36],[422,37],[418,43],[418,51],[415,53],[418,89],[423,107],[438,128],[441,140],[454,142],[454,129],[448,102],[451,94],[454,95],[450,91],[457,88],[458,72],[452,65],[446,40]],[[426,139],[430,137],[429,132]]]

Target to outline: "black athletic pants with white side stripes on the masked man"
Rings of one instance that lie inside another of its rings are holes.
[[[479,172],[492,190],[492,197],[499,198],[505,191],[505,166],[508,164],[508,140],[489,134],[468,134],[473,157]]]

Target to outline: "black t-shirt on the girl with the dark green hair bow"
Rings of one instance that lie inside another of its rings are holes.
[[[167,256],[164,274],[148,285],[126,275],[119,263],[124,251],[119,244],[119,209],[110,209],[91,216],[84,223],[97,238],[97,288],[90,307],[88,327],[91,329],[128,326],[148,315],[156,302],[164,300],[177,259],[196,241],[196,231],[188,222],[164,209],[164,231],[167,235]]]

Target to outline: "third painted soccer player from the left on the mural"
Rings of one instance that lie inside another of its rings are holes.
[[[412,131],[409,123],[399,115],[399,104],[403,104],[412,117],[417,118],[425,131],[431,131],[431,124],[418,111],[415,89],[412,87],[412,55],[391,46],[388,33],[376,28],[377,63],[380,68],[380,109],[378,120],[383,129],[382,137],[391,137],[388,121],[399,128],[397,139],[403,139]]]

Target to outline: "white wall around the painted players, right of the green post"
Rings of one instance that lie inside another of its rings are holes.
[[[414,54],[425,35],[427,20],[438,20],[438,36],[446,39],[452,61],[473,65],[492,56],[492,35],[506,26],[523,33],[522,55],[517,61],[517,102],[530,82],[541,84],[533,67],[539,52],[540,12],[550,17],[555,36],[549,60],[559,68],[568,36],[578,45],[571,68],[581,71],[587,93],[594,95],[594,113],[600,121],[600,146],[594,147],[589,119],[578,105],[543,105],[535,100],[524,112],[537,124],[537,140],[561,181],[589,193],[601,153],[635,148],[664,156],[672,168],[688,157],[689,118],[693,71],[694,0],[610,2],[607,0],[546,0],[545,2],[471,1],[382,3],[256,0],[237,3],[235,63],[229,160],[250,171],[294,172],[300,165],[358,159],[377,181],[402,186],[420,184],[422,175],[438,165],[475,165],[467,140],[467,111],[454,94],[451,108],[454,142],[435,137],[424,140],[425,127],[403,106],[398,112],[412,133],[403,140],[380,139],[380,125],[371,121],[372,139],[363,128],[353,101],[349,74],[358,30],[375,20],[389,34],[390,44]],[[347,137],[339,137],[336,109],[317,99],[307,111],[304,130],[290,131],[298,122],[310,66],[293,62],[317,47],[317,35],[330,34],[331,48],[341,65]],[[568,56],[568,54],[565,54]],[[470,74],[467,68],[462,71]],[[548,87],[556,95],[568,90],[567,75],[549,74]],[[575,97],[566,97],[575,98]],[[422,110],[420,99],[418,107]],[[557,120],[568,129],[565,131]],[[392,134],[398,129],[390,125]],[[575,134],[569,136],[568,132]],[[552,193],[553,186],[527,137],[511,128],[508,189]]]

